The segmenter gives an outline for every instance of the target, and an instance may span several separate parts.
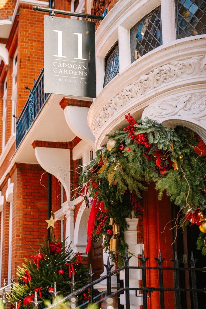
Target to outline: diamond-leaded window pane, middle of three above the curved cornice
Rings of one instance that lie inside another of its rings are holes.
[[[130,30],[131,62],[162,45],[160,6]]]

